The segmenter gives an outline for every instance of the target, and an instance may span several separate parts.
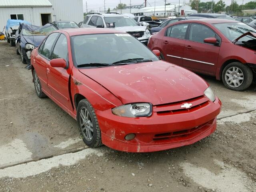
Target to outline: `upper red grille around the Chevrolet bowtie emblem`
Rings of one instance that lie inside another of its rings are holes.
[[[161,104],[153,107],[153,111],[157,115],[171,115],[171,114],[182,114],[196,111],[200,108],[207,106],[210,103],[209,98],[206,96],[199,96],[189,100],[180,102],[174,102],[169,104]],[[190,108],[181,107],[184,104],[192,104]]]

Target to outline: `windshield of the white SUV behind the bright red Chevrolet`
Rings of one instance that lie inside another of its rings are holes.
[[[130,17],[104,17],[106,23],[115,23],[116,27],[138,26]]]

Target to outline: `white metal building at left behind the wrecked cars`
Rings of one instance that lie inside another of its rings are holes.
[[[82,0],[0,0],[0,31],[8,19],[42,26],[54,20],[83,20]]]

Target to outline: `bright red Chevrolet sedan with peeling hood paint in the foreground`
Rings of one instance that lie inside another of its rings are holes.
[[[75,118],[90,147],[152,152],[212,134],[220,100],[159,55],[117,30],[58,30],[31,54],[36,94]]]

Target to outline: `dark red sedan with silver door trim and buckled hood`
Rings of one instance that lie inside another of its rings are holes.
[[[256,78],[256,30],[242,22],[176,22],[152,35],[148,47],[159,50],[162,60],[216,76],[231,90],[244,90]]]

